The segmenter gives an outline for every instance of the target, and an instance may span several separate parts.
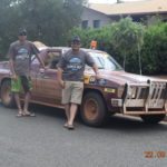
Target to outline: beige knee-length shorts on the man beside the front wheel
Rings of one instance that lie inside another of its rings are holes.
[[[81,104],[84,92],[84,82],[81,81],[65,81],[62,89],[62,104]]]

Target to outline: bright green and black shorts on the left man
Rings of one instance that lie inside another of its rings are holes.
[[[32,89],[30,77],[18,76],[18,79],[11,79],[11,91],[13,92],[28,92]]]

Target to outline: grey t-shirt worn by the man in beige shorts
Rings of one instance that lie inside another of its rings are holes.
[[[79,50],[78,53],[73,53],[72,50],[68,50],[61,57],[58,67],[63,70],[62,78],[68,81],[82,81],[85,65],[94,66],[95,61],[84,50]]]

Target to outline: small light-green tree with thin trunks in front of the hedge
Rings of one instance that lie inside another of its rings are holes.
[[[124,69],[129,58],[127,56],[132,52],[138,52],[139,72],[141,75],[141,59],[140,50],[144,43],[144,27],[140,23],[132,22],[131,18],[121,19],[112,27],[112,46],[116,50],[119,50],[124,57]],[[132,59],[130,57],[130,59]]]

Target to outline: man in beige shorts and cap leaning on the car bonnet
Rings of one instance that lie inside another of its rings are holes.
[[[62,87],[62,104],[65,105],[67,122],[63,127],[73,129],[73,120],[84,92],[85,65],[92,67],[98,77],[98,68],[92,58],[80,49],[80,38],[75,37],[69,49],[58,63],[58,80]],[[63,73],[62,73],[63,71]]]

